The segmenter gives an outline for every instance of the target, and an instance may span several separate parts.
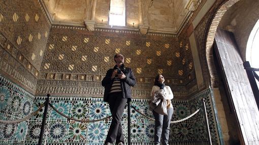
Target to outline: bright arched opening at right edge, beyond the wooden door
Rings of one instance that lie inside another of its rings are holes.
[[[259,68],[259,20],[254,25],[246,47],[246,61],[249,61],[251,67]],[[259,75],[259,72],[256,72]]]

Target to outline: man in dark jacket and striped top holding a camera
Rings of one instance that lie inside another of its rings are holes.
[[[131,86],[136,84],[136,80],[131,68],[124,66],[124,57],[121,54],[114,56],[116,65],[109,69],[102,80],[104,90],[104,102],[109,103],[112,113],[112,122],[105,140],[105,145],[123,145],[124,138],[121,126],[121,116],[127,102],[131,101]]]

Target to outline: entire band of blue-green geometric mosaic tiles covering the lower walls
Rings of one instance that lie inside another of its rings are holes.
[[[4,120],[17,120],[37,110],[44,102],[44,96],[36,96],[27,93],[9,80],[0,76],[1,100],[0,115]],[[208,117],[213,144],[218,144],[218,133],[213,116],[210,90],[206,90],[190,100],[173,100],[174,114],[172,120],[182,119],[196,111],[200,106],[201,98],[208,100]],[[33,101],[34,100],[34,101]],[[51,96],[51,104],[64,114],[76,119],[101,119],[111,115],[109,105],[103,102],[102,98],[91,97],[58,97]],[[133,99],[132,105],[144,114],[153,118],[152,112],[148,110],[148,99]],[[13,108],[19,106],[19,109]],[[29,143],[37,144],[39,141],[43,110],[39,114],[15,125],[1,125],[0,143]],[[61,144],[103,144],[109,129],[111,118],[91,123],[79,123],[68,120],[50,107],[45,125],[44,141],[47,143]],[[122,129],[125,141],[127,142],[127,107],[122,115]],[[183,122],[171,124],[170,143],[172,144],[197,144],[206,142],[206,127],[204,126],[203,113],[200,111],[195,116]],[[153,144],[154,121],[148,120],[131,109],[131,141],[133,143],[144,142]]]

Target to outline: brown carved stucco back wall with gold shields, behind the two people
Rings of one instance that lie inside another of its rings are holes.
[[[148,97],[158,73],[164,74],[176,97],[186,98],[195,91],[186,89],[196,83],[186,38],[53,26],[46,48],[37,94],[49,91],[57,95],[102,96],[101,81],[115,65],[116,53],[125,56],[125,65],[133,69],[137,78],[134,96]]]

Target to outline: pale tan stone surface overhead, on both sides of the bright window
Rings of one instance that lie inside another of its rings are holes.
[[[126,0],[126,26],[150,32],[177,33],[202,0]],[[53,24],[107,27],[110,0],[42,0]],[[196,4],[196,6],[195,6]],[[188,8],[187,5],[189,6]],[[189,10],[188,10],[189,9]],[[134,27],[133,27],[134,23]]]

